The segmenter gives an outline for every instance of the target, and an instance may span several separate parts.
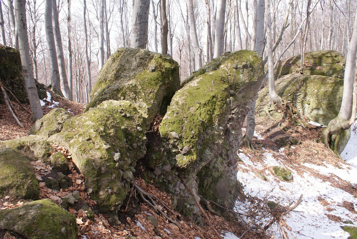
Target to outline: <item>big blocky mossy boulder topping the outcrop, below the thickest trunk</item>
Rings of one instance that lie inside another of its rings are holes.
[[[105,100],[130,101],[146,118],[147,128],[156,113],[165,114],[179,88],[176,61],[144,49],[119,48],[100,70],[86,110]]]

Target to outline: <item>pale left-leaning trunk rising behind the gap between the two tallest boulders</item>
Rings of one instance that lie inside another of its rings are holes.
[[[195,21],[195,14],[193,12],[192,0],[187,1],[187,7],[188,7],[188,21],[190,25],[190,36],[192,40],[193,52],[194,52],[194,56],[197,56],[197,59],[195,60],[195,69],[198,70],[202,67],[202,51],[198,43],[196,21]]]

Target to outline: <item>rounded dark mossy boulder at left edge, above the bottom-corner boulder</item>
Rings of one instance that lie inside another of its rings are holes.
[[[39,199],[39,184],[28,158],[13,148],[0,149],[0,197]]]

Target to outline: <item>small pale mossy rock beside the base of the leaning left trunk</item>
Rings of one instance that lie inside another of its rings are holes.
[[[29,134],[39,135],[42,138],[48,138],[55,133],[59,133],[62,130],[63,122],[65,122],[71,116],[62,108],[55,108],[47,113],[40,120],[37,120],[32,125]]]

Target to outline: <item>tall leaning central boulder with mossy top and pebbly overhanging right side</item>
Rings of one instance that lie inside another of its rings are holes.
[[[183,214],[198,208],[180,176],[200,197],[232,207],[236,196],[236,151],[241,127],[263,78],[262,59],[253,51],[226,53],[182,83],[150,145],[144,162],[151,177],[177,197]]]

